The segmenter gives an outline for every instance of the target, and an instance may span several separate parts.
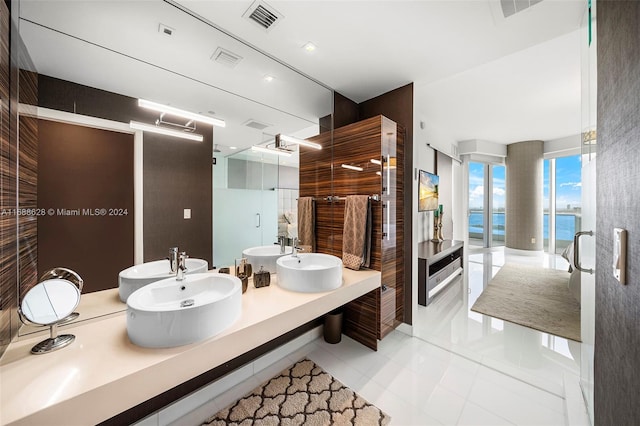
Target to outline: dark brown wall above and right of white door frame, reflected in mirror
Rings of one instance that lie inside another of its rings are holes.
[[[39,75],[39,105],[128,123],[152,123],[158,113],[128,96]],[[204,142],[144,134],[144,261],[165,258],[178,246],[212,264],[212,126],[198,123]],[[190,208],[192,218],[183,219]]]

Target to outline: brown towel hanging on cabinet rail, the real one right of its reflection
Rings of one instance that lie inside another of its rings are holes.
[[[349,195],[344,204],[342,263],[349,269],[368,268],[371,258],[371,202],[368,195]]]

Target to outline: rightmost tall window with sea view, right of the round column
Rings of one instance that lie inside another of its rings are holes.
[[[581,223],[580,155],[544,161],[545,251],[562,253]]]

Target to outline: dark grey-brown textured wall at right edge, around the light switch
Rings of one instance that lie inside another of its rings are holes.
[[[627,426],[640,424],[640,2],[597,6],[594,424]],[[629,236],[626,285],[611,273],[614,227]]]

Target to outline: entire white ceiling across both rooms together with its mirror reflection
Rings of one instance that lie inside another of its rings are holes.
[[[508,143],[580,130],[576,31],[586,0],[544,0],[508,19],[488,0],[268,1],[284,17],[269,31],[242,18],[251,3],[22,0],[21,17],[38,25],[23,20],[20,30],[39,72],[215,111],[233,124],[262,115],[272,134],[317,122],[330,108],[329,91],[175,4],[357,102],[414,82],[416,119],[455,140]],[[175,35],[159,34],[160,23]],[[318,46],[311,54],[301,48],[308,41]],[[210,61],[219,45],[243,62],[229,70]],[[131,58],[135,65],[125,65]]]

